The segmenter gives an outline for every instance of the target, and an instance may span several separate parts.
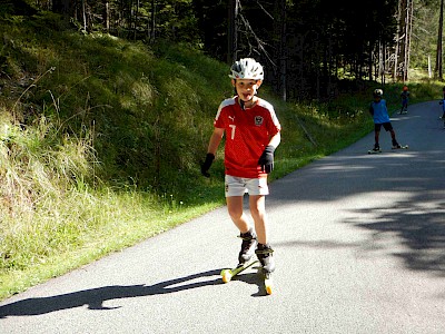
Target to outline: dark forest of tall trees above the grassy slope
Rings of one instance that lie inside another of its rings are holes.
[[[16,10],[60,13],[68,28],[83,33],[187,43],[227,62],[254,57],[265,65],[267,80],[284,99],[325,100],[350,89],[342,81],[352,80],[354,87],[360,80],[406,81],[411,65],[426,70],[434,61],[434,75],[442,79],[441,1],[9,2]]]

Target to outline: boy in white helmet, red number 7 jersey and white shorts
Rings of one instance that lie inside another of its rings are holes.
[[[281,126],[274,107],[256,96],[264,79],[261,65],[253,58],[244,58],[236,61],[230,71],[237,95],[225,99],[218,108],[201,173],[209,177],[208,170],[226,135],[225,193],[229,216],[243,239],[238,262],[248,262],[258,244],[255,253],[269,274],[275,263],[267,234],[265,196],[269,194],[267,175],[274,169],[274,151],[280,143]],[[243,212],[245,193],[249,194],[254,226]]]

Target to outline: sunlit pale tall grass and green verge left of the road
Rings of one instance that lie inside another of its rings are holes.
[[[215,207],[186,209],[172,194],[105,186],[95,178],[91,129],[61,135],[44,117],[26,128],[1,126],[1,297]]]

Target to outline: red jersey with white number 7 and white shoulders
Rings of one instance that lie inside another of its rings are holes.
[[[269,102],[258,98],[253,108],[243,110],[238,97],[226,99],[218,108],[214,126],[225,129],[224,165],[227,175],[246,178],[267,176],[261,171],[258,159],[270,137],[281,130]]]

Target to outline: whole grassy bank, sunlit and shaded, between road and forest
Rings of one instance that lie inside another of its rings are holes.
[[[227,66],[181,46],[56,32],[57,18],[0,21],[0,299],[224,205],[222,147],[199,174]],[[48,38],[50,36],[51,38]],[[270,180],[372,129],[366,89],[284,102]],[[412,102],[442,84],[409,84]],[[398,108],[400,84],[385,97]],[[370,144],[372,145],[372,144]]]

